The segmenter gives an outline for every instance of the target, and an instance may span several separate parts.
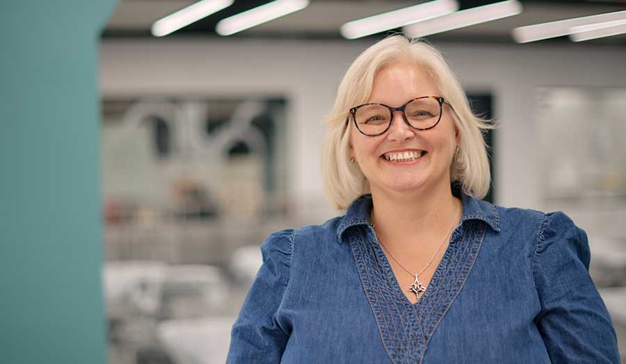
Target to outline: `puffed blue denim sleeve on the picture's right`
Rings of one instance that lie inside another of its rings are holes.
[[[589,276],[587,235],[564,213],[545,215],[533,276],[536,324],[552,363],[620,363],[617,337]]]

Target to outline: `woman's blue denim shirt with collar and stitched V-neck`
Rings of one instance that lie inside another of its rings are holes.
[[[620,363],[586,233],[560,212],[457,195],[460,223],[416,304],[372,229],[371,195],[270,235],[227,363]]]

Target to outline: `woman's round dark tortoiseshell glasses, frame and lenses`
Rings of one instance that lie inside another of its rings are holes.
[[[441,120],[444,103],[452,108],[443,97],[422,96],[416,97],[397,108],[378,103],[362,104],[351,108],[350,113],[360,133],[367,136],[377,136],[389,130],[396,110],[402,112],[404,121],[413,129],[434,128]]]

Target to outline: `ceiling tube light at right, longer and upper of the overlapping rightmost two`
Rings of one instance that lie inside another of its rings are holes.
[[[517,43],[534,42],[548,38],[561,37],[572,34],[572,28],[602,22],[613,22],[615,20],[626,19],[626,10],[591,15],[588,17],[577,17],[573,19],[559,20],[542,24],[520,26],[513,29],[513,39]]]

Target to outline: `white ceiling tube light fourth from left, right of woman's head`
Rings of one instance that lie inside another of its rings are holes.
[[[511,17],[522,13],[522,4],[517,0],[501,1],[485,6],[477,6],[467,10],[457,11],[405,26],[402,30],[408,37],[417,38],[426,35],[451,31],[453,29],[464,28],[474,24],[491,22],[503,17]]]

